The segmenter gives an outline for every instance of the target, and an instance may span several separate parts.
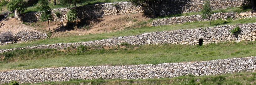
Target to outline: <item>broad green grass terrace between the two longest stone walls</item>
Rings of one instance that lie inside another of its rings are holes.
[[[126,44],[122,44],[126,45]],[[82,47],[66,50],[15,50],[4,53],[0,71],[65,66],[139,65],[209,61],[256,56],[256,41],[203,46],[141,45],[113,48]],[[1,60],[0,60],[1,61]]]

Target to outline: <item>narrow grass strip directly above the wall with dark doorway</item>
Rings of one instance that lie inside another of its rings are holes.
[[[227,25],[227,24],[229,25],[244,24],[244,23],[254,23],[254,22],[256,22],[256,18],[227,20],[227,21],[214,20],[212,21],[212,26]],[[170,30],[178,30],[178,29],[193,29],[193,28],[204,28],[204,27],[210,27],[210,24],[208,21],[189,22],[185,24],[166,25],[166,26],[158,26],[158,27],[142,27],[137,29],[122,30],[117,32],[109,32],[109,33],[94,34],[94,35],[69,36],[69,37],[60,37],[60,38],[50,38],[45,40],[35,40],[35,41],[16,43],[12,45],[3,45],[3,46],[0,46],[0,49],[10,49],[10,48],[35,46],[35,45],[43,45],[43,44],[93,41],[93,40],[107,39],[111,37],[140,35],[143,33],[154,32],[154,31],[170,31]]]

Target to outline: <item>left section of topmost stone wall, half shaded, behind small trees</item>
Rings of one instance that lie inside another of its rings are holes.
[[[51,13],[51,15],[53,16],[53,20],[60,21],[60,19],[57,18],[55,15],[56,11],[59,11],[63,14],[61,20],[67,20],[66,14],[70,9],[74,8],[53,9]],[[106,15],[120,15],[142,12],[140,6],[135,6],[134,4],[128,2],[86,5],[78,7],[78,10],[79,17],[84,19],[100,18]],[[23,20],[27,22],[34,22],[40,20],[40,17],[41,12],[26,13],[23,16]]]

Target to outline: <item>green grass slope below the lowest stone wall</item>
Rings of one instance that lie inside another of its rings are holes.
[[[242,72],[234,74],[223,74],[216,76],[200,76],[192,75],[162,78],[162,79],[140,79],[140,80],[71,80],[68,82],[44,82],[36,84],[21,85],[255,85],[255,72]]]

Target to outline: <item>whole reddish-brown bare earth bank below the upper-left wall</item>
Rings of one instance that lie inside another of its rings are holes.
[[[86,19],[85,19],[86,20]],[[72,35],[88,35],[88,34],[97,34],[105,32],[113,32],[124,29],[134,29],[141,26],[149,25],[147,21],[149,18],[143,16],[143,13],[136,13],[130,15],[113,15],[105,16],[104,18],[98,18],[94,20],[82,21],[78,23],[80,26],[75,28],[59,28],[61,26],[60,21],[51,21],[50,29],[58,30],[52,33],[51,37],[66,37]],[[64,25],[67,21],[63,22]],[[34,27],[35,30],[41,32],[49,32],[48,22],[35,22],[35,23],[26,23],[27,25]]]

